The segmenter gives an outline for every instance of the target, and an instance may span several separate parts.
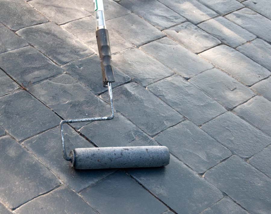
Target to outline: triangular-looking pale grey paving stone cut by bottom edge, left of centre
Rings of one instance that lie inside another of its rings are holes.
[[[81,197],[68,187],[60,187],[50,193],[35,198],[16,209],[16,214],[47,213],[96,213]]]

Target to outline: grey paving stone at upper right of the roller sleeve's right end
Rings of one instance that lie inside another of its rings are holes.
[[[193,170],[203,173],[232,153],[190,121],[157,134],[154,139]]]

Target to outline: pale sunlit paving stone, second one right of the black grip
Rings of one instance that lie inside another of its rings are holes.
[[[169,67],[185,79],[213,68],[213,65],[188,49],[165,37],[142,46],[144,52]]]

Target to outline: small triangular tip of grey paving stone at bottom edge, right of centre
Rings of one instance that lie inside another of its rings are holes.
[[[229,198],[223,198],[219,202],[215,203],[213,206],[201,212],[201,214],[248,214],[244,209],[238,206]]]

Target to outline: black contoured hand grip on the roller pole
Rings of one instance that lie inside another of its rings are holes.
[[[108,30],[101,28],[96,30],[96,39],[98,44],[98,50],[101,61],[101,70],[103,76],[103,86],[107,87],[108,82],[115,82],[112,60],[111,60],[111,51],[110,51],[110,42],[108,36]]]

